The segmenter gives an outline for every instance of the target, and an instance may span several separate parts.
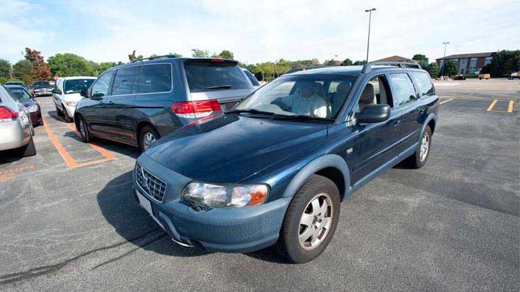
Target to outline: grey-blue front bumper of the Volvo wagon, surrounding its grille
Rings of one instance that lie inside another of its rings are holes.
[[[134,191],[150,200],[154,216],[175,241],[224,252],[260,250],[277,241],[291,198],[243,209],[204,207],[196,211],[180,199],[190,178],[166,169],[146,155],[141,155],[137,162],[167,184],[164,199],[158,202],[139,187],[134,173]]]

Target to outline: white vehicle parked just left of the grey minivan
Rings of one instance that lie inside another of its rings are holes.
[[[63,116],[67,123],[71,123],[76,110],[76,104],[83,98],[81,90],[89,89],[96,77],[92,76],[73,76],[60,77],[56,80],[53,89],[53,99],[58,115]]]

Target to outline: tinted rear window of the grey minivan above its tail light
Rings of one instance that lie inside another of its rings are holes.
[[[186,62],[184,70],[193,93],[252,88],[248,77],[234,62]]]

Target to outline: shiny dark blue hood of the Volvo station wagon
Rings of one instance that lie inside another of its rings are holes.
[[[326,135],[323,123],[226,114],[175,130],[144,155],[194,180],[236,183]]]

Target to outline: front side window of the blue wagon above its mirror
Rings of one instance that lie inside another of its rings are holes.
[[[370,104],[390,105],[390,108],[393,106],[388,81],[384,75],[370,79],[361,92],[358,101],[359,111],[361,112],[365,106]]]

